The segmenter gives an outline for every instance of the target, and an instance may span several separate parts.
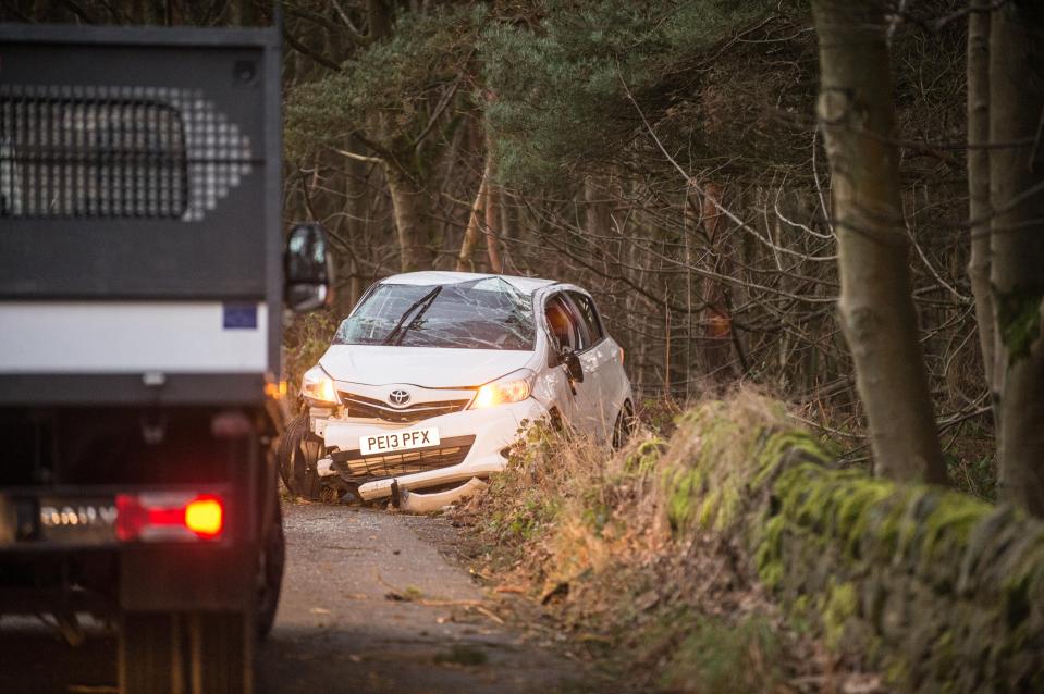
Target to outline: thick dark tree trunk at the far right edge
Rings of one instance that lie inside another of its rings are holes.
[[[1002,495],[1044,517],[1044,8],[1011,0],[992,17],[990,153],[994,382]]]

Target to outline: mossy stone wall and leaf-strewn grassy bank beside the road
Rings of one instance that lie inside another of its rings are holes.
[[[836,469],[757,395],[676,425],[616,454],[533,430],[454,512],[517,619],[635,691],[1036,691],[1044,525]]]

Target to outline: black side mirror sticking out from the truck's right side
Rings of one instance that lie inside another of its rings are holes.
[[[315,311],[333,298],[333,256],[322,226],[296,224],[283,258],[286,306],[297,313]]]

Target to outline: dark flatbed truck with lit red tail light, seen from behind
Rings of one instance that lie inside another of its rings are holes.
[[[248,692],[283,569],[275,28],[0,24],[0,615],[119,632],[119,684]]]

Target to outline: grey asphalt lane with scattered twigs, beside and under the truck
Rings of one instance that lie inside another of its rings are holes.
[[[286,575],[258,654],[259,694],[573,689],[575,666],[523,642],[446,559],[455,531],[444,520],[287,504],[284,523]],[[0,692],[116,692],[115,639],[100,624],[89,632],[72,649],[34,621],[0,622]]]

